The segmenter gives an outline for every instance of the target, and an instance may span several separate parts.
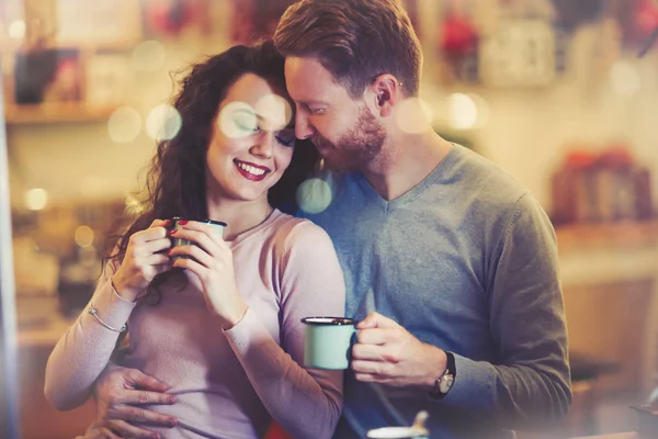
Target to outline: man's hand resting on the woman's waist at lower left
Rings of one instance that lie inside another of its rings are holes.
[[[97,420],[88,434],[95,426],[98,434],[110,430],[121,438],[160,438],[157,432],[141,426],[171,428],[177,425],[178,419],[147,410],[141,405],[175,403],[174,395],[164,393],[169,389],[169,385],[137,369],[110,364],[97,380],[94,389]],[[114,438],[113,436],[98,437]],[[84,438],[89,439],[87,435]]]

